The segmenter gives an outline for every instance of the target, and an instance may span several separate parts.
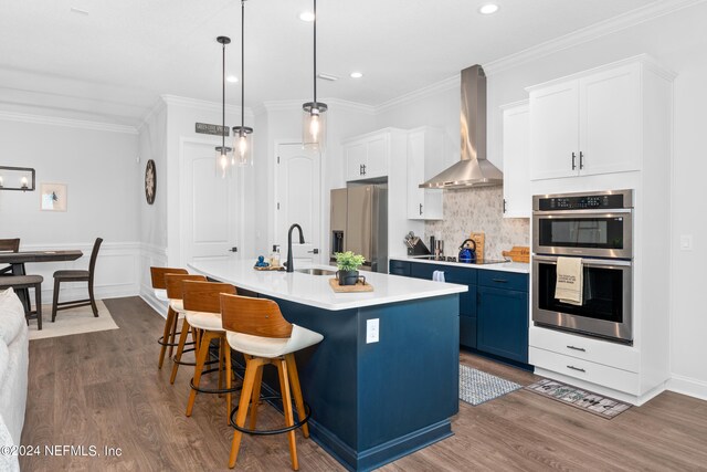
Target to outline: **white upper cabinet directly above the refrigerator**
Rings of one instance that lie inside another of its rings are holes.
[[[365,180],[388,175],[390,133],[381,130],[346,140],[346,180]]]

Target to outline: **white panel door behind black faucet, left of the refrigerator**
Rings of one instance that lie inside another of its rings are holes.
[[[275,201],[275,244],[279,244],[281,259],[287,258],[287,232],[292,224],[302,227],[305,243],[293,231],[293,259],[297,263],[320,262],[321,182],[319,153],[305,150],[300,144],[277,147]]]

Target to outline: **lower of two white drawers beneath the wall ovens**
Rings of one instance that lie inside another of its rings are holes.
[[[589,360],[578,359],[577,357],[564,356],[550,350],[538,349],[532,346],[529,349],[529,354],[530,364],[536,367],[626,394],[639,395],[641,385],[639,374],[590,363]]]

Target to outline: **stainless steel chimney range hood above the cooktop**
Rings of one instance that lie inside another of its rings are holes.
[[[469,188],[503,185],[504,175],[486,160],[486,74],[481,65],[462,71],[462,160],[420,188]]]

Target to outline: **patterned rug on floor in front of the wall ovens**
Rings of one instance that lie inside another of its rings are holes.
[[[606,419],[615,418],[619,413],[631,408],[631,405],[613,398],[547,378],[527,386],[526,389]]]

